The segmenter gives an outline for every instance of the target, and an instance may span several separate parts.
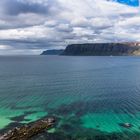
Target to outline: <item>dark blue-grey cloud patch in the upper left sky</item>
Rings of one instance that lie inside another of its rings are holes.
[[[35,0],[1,0],[2,12],[6,15],[19,15],[22,13],[47,14],[54,5],[54,1],[35,1]]]

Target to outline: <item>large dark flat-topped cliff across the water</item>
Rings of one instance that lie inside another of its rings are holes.
[[[94,43],[68,45],[63,55],[138,55],[140,43]]]

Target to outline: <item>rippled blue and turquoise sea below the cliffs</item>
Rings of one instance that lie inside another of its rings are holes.
[[[140,140],[140,57],[0,56],[0,132],[46,116],[34,140]]]

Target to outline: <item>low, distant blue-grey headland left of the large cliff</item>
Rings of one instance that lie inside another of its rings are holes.
[[[64,52],[63,49],[61,50],[47,50],[47,51],[43,51],[41,53],[41,55],[60,55]]]

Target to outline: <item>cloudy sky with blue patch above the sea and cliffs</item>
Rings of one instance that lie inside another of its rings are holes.
[[[0,55],[140,41],[138,0],[0,0]]]

